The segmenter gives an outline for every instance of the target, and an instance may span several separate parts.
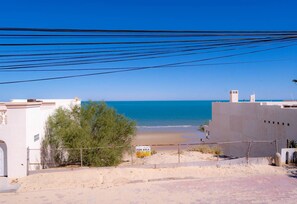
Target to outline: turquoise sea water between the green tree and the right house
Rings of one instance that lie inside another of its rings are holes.
[[[120,114],[133,119],[137,126],[190,127],[211,119],[213,101],[110,101]]]

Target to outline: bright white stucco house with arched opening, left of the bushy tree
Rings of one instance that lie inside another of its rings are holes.
[[[80,105],[75,99],[28,99],[0,103],[0,176],[23,177],[29,170],[27,159],[40,163],[40,149],[45,123],[58,107]],[[30,168],[38,168],[33,165]]]

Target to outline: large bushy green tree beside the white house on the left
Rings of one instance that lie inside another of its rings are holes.
[[[118,114],[104,102],[59,108],[46,124],[44,159],[57,165],[65,160],[77,163],[80,162],[79,150],[83,148],[84,165],[117,165],[124,152],[130,149],[135,132],[134,121]]]

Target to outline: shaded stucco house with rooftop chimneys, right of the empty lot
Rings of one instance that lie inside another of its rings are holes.
[[[229,102],[212,104],[212,120],[205,129],[207,142],[258,141],[251,143],[250,156],[273,156],[297,140],[297,101],[248,102],[238,100],[238,91],[230,91]],[[265,141],[276,140],[276,143]],[[261,143],[261,141],[263,141]],[[244,157],[248,143],[222,145],[224,154]]]

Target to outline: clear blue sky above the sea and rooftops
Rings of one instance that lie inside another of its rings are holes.
[[[0,27],[172,30],[297,30],[295,0],[1,0]],[[297,99],[297,46],[216,62],[259,63],[144,70],[114,75],[0,86],[0,101],[12,98],[83,100]],[[170,59],[119,63],[143,66]],[[0,81],[46,74],[5,74]]]

